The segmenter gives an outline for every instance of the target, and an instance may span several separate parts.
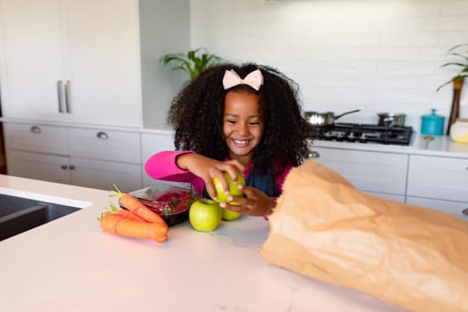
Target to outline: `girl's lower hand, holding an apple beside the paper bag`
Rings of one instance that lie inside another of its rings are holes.
[[[227,200],[234,201],[239,206],[230,205],[226,202],[221,202],[219,206],[250,216],[267,216],[273,212],[276,207],[275,199],[268,197],[266,193],[255,187],[243,185],[238,187],[247,197],[229,196]]]

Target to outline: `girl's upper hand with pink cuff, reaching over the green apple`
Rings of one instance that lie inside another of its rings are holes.
[[[193,175],[201,177],[212,199],[216,198],[215,186],[213,185],[214,177],[218,177],[223,188],[228,192],[229,185],[227,184],[224,172],[227,172],[233,181],[236,181],[237,172],[241,172],[243,176],[243,170],[245,169],[238,160],[213,160],[194,152],[177,156],[176,163],[179,168],[189,170]]]

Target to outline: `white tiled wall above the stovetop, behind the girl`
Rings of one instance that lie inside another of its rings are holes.
[[[396,111],[419,130],[431,108],[447,117],[452,86],[435,90],[457,70],[440,65],[462,43],[467,0],[191,0],[193,47],[282,70],[299,83],[304,111],[364,108],[343,122]]]

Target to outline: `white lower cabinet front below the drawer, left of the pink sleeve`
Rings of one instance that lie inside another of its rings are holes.
[[[140,165],[122,162],[70,158],[71,184],[128,193],[142,188]]]

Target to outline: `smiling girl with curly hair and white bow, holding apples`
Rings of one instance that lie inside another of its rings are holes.
[[[199,194],[215,199],[213,177],[228,190],[223,173],[235,181],[241,172],[244,196],[228,197],[238,205],[220,206],[269,215],[284,178],[308,152],[307,123],[297,92],[290,78],[263,65],[221,64],[204,71],[171,104],[168,122],[176,130],[177,152],[153,155],[145,164],[146,173],[189,182]]]

